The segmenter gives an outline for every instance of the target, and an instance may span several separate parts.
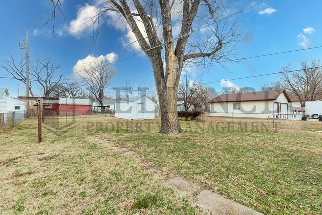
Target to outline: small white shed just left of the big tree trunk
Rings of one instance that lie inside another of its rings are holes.
[[[115,117],[136,120],[154,119],[155,102],[146,95],[127,97],[115,102]]]

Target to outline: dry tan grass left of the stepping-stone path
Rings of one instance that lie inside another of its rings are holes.
[[[203,214],[146,173],[150,163],[80,125],[61,136],[44,130],[43,143],[36,129],[18,128],[0,134],[0,214]]]

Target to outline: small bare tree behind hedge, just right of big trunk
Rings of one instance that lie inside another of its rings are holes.
[[[185,80],[179,83],[178,87],[178,100],[183,102],[184,108],[189,108],[199,99],[202,95],[201,85],[196,81],[190,81],[187,76]]]

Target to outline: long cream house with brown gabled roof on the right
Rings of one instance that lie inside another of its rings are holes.
[[[210,116],[267,118],[287,113],[291,99],[285,90],[222,94],[210,102]]]

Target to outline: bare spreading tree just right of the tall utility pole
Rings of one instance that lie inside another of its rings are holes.
[[[35,77],[42,87],[44,97],[50,97],[50,94],[64,76],[64,73],[56,75],[59,68],[60,64],[55,64],[50,57],[44,57],[42,60],[37,57],[35,61],[30,62],[30,75]]]

